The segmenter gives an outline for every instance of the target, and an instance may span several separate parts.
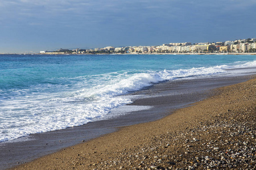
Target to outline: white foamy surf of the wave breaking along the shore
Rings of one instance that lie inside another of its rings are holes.
[[[121,71],[119,73],[80,76],[73,78],[74,80],[71,78],[71,85],[47,85],[48,87],[38,85],[15,91],[16,95],[0,103],[0,142],[32,133],[79,126],[94,121],[95,118],[104,118],[104,115],[111,112],[113,108],[131,103],[131,99],[118,97],[119,95],[141,90],[152,83],[226,74],[227,69],[255,66],[256,61],[233,66]],[[120,114],[124,113],[120,112]]]

